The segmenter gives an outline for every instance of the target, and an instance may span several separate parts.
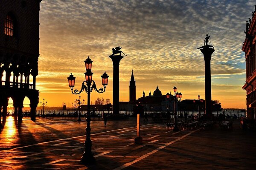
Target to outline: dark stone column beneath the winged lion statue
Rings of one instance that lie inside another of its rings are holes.
[[[119,62],[123,56],[110,55],[113,62],[113,114],[119,114]]]

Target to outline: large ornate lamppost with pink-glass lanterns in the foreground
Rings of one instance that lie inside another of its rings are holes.
[[[99,88],[99,90],[96,88],[96,84],[95,82],[92,80],[93,77],[93,73],[91,72],[92,69],[92,60],[88,57],[84,63],[85,63],[85,69],[86,72],[85,74],[85,81],[82,82],[82,86],[81,86],[81,90],[73,90],[73,88],[75,87],[75,79],[76,77],[74,77],[72,74],[70,74],[69,77],[67,77],[68,79],[68,84],[70,86],[70,89],[72,91],[72,94],[81,94],[81,92],[85,91],[87,93],[87,117],[86,117],[86,122],[87,122],[87,127],[86,127],[86,139],[84,141],[84,146],[85,146],[85,150],[83,153],[83,156],[81,157],[81,163],[82,164],[86,164],[86,163],[93,163],[95,161],[95,158],[93,157],[93,153],[92,153],[92,141],[90,139],[90,135],[91,135],[91,128],[90,128],[90,93],[93,91],[93,89],[95,91],[97,91],[98,93],[104,93],[105,92],[105,88],[108,85],[108,74],[106,74],[106,72],[101,76],[102,77],[102,85],[103,88]],[[86,85],[85,85],[86,83]],[[93,84],[92,84],[93,83]]]

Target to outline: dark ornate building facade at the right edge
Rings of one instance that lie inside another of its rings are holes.
[[[247,22],[242,51],[245,55],[246,81],[242,87],[246,90],[246,108],[249,119],[256,118],[256,17],[253,15],[250,24]]]

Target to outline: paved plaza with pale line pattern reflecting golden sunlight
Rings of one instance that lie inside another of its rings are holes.
[[[80,163],[86,122],[8,117],[0,132],[0,170],[254,170],[256,132],[244,131],[239,121],[221,130],[166,129],[165,123],[141,121],[143,144],[134,144],[136,118],[92,121],[95,164]]]

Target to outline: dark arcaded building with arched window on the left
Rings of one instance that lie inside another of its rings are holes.
[[[9,98],[22,119],[23,100],[30,100],[35,121],[39,92],[35,88],[39,57],[41,0],[0,0],[0,111],[6,119]]]

